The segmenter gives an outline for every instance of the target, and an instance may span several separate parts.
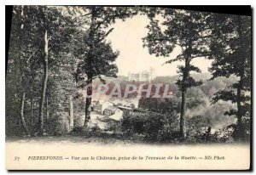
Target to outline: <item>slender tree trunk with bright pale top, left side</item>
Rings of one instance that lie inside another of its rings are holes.
[[[44,82],[41,93],[40,109],[39,109],[39,132],[44,132],[44,99],[48,81],[48,36],[47,31],[44,33]]]

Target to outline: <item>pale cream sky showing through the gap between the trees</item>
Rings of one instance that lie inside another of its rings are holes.
[[[180,54],[180,48],[175,48],[168,58],[150,55],[148,48],[143,48],[142,38],[147,36],[148,30],[145,27],[148,23],[147,16],[137,15],[125,21],[118,20],[112,26],[114,29],[108,35],[108,40],[112,42],[113,50],[120,52],[115,62],[119,68],[118,76],[128,76],[129,72],[148,71],[150,67],[154,69],[156,76],[177,75],[177,65],[182,62],[163,64]],[[198,66],[202,72],[207,72],[211,60],[193,59],[191,64]]]

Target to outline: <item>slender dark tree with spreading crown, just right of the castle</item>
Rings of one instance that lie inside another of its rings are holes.
[[[180,137],[186,138],[186,92],[188,88],[200,86],[201,81],[196,82],[190,76],[192,71],[201,72],[191,60],[207,56],[206,19],[208,14],[201,12],[185,11],[180,9],[155,9],[146,10],[150,24],[148,36],[143,38],[144,47],[148,47],[149,54],[157,57],[168,57],[173,49],[179,47],[181,54],[171,58],[165,64],[183,61],[184,65],[178,65],[180,78],[177,80],[178,88],[182,92],[180,113]],[[159,18],[163,21],[157,20]]]

